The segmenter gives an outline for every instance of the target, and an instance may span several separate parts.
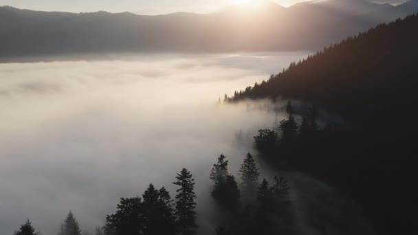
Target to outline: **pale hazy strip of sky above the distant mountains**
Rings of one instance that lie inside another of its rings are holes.
[[[31,10],[65,12],[134,12],[138,14],[162,14],[168,12],[212,12],[225,5],[241,1],[260,0],[0,0],[0,5]],[[261,0],[263,1],[263,0]],[[281,5],[292,5],[306,0],[274,0]]]

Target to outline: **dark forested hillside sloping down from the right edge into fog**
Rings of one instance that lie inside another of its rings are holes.
[[[278,168],[333,183],[365,208],[382,234],[415,230],[417,28],[416,14],[378,25],[225,96],[230,103],[268,98],[309,104],[295,110],[305,117],[300,137],[290,115],[281,124],[281,145],[273,141],[278,132],[265,129],[256,139],[259,150]],[[318,129],[312,118],[320,112],[344,122]]]

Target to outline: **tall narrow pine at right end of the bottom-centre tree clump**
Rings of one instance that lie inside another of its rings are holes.
[[[194,192],[195,179],[192,174],[183,168],[173,182],[180,188],[176,190],[175,215],[177,216],[177,228],[181,235],[196,234],[196,194]]]

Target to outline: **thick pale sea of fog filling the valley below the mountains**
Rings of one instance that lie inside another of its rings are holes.
[[[227,105],[219,98],[305,56],[148,54],[0,64],[0,234],[12,234],[29,217],[43,235],[54,235],[69,210],[92,232],[120,197],[141,195],[149,183],[174,196],[171,182],[183,167],[197,181],[199,226],[212,234],[212,164],[223,153],[237,176],[245,154],[255,153],[256,130],[285,117],[266,102]],[[333,210],[346,206],[333,203]]]

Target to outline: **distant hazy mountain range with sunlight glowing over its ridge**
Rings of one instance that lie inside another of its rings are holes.
[[[177,12],[67,13],[0,8],[0,60],[26,56],[118,52],[234,52],[314,50],[377,23],[418,12],[365,0],[233,5],[211,14]]]

